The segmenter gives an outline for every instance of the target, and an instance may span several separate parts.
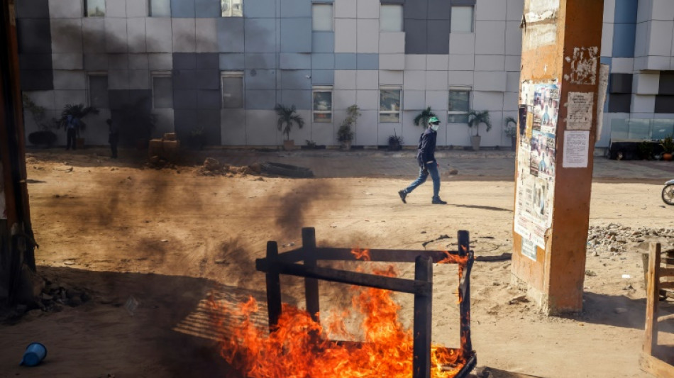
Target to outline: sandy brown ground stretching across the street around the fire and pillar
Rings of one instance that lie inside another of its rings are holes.
[[[362,164],[355,160],[354,164]],[[142,169],[95,155],[28,157],[38,271],[54,286],[92,300],[61,311],[30,311],[0,325],[0,377],[238,377],[219,357],[217,330],[204,320],[211,293],[232,304],[265,301],[255,258],[267,240],[301,243],[304,226],[319,245],[453,249],[469,230],[478,256],[511,251],[513,183],[443,178],[448,206],[431,206],[431,186],[399,201],[407,178],[286,179],[204,177],[195,167]],[[674,228],[660,184],[595,183],[591,225]],[[511,299],[510,262],[476,262],[473,347],[498,377],[648,377],[639,369],[645,299],[641,252],[587,256],[585,309],[547,317]],[[435,271],[433,340],[458,346],[455,269]],[[408,265],[402,277],[414,275]],[[629,274],[629,279],[623,278]],[[631,289],[630,289],[631,287]],[[342,287],[321,284],[321,309],[338,307]],[[283,279],[284,301],[304,306],[302,287]],[[131,300],[130,300],[131,298]],[[135,309],[126,304],[137,301]],[[411,326],[412,300],[399,295]],[[129,311],[129,308],[133,311]],[[626,311],[618,310],[624,308]],[[674,311],[663,304],[664,311]],[[673,329],[663,341],[674,344]],[[28,343],[48,357],[19,367]],[[520,375],[526,374],[526,375]]]

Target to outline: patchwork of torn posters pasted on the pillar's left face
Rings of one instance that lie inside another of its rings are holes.
[[[520,120],[526,117],[526,127],[517,152],[514,230],[543,249],[552,224],[559,94],[556,83],[522,83]]]

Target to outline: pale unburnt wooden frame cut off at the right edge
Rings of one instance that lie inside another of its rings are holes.
[[[646,336],[643,339],[643,350],[639,363],[641,369],[656,377],[674,377],[674,365],[671,358],[662,360],[658,355],[658,323],[673,321],[674,314],[658,317],[658,301],[661,289],[674,289],[674,261],[665,258],[665,267],[661,267],[661,245],[651,243],[648,250],[648,277],[646,282]],[[661,281],[661,278],[665,279]],[[667,280],[667,279],[670,280]],[[666,298],[666,295],[665,295]],[[669,356],[671,357],[671,356]]]

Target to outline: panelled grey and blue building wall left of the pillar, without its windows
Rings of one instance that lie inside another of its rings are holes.
[[[346,109],[358,104],[355,145],[385,145],[394,133],[415,145],[414,116],[431,106],[444,124],[449,89],[469,87],[470,107],[492,117],[482,145],[510,144],[503,119],[516,117],[523,0],[321,1],[333,4],[333,30],[312,31],[310,0],[244,0],[243,17],[222,17],[219,0],[172,0],[170,17],[148,16],[145,1],[106,0],[100,18],[83,17],[82,0],[22,0],[23,90],[57,116],[65,104],[88,104],[89,75],[106,74],[109,102],[87,118],[89,144],[105,144],[105,120],[152,99],[153,76],[170,74],[173,105],[153,109],[157,135],[202,128],[215,145],[277,145],[273,109],[284,104],[306,121],[291,133],[297,144],[336,145]],[[404,31],[380,31],[381,4],[403,4]],[[453,5],[475,6],[473,33],[451,33]],[[243,74],[243,109],[221,106],[223,72]],[[333,87],[331,123],[312,121],[316,86]],[[402,91],[399,123],[379,121],[382,86]],[[27,115],[27,132],[36,128]],[[470,145],[465,123],[440,133],[441,145]]]

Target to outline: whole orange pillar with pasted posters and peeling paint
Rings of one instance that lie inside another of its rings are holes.
[[[603,3],[524,3],[512,281],[550,315],[582,310]]]

